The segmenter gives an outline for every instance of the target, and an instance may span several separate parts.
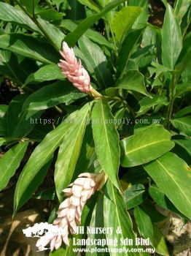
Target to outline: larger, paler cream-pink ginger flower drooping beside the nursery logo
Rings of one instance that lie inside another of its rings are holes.
[[[61,235],[46,233],[39,238],[36,246],[40,251],[47,249],[45,247],[47,244],[50,244],[51,251],[58,249],[62,243],[69,246],[69,231],[71,234],[77,233],[77,224],[81,223],[85,203],[105,181],[104,172],[81,173],[67,189],[63,189],[67,198],[60,204],[57,211],[58,218],[53,222],[53,225],[63,228],[63,232]]]

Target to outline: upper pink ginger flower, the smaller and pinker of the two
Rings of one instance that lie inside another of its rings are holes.
[[[63,75],[66,75],[66,78],[80,91],[90,92],[93,89],[90,85],[90,76],[85,68],[82,67],[81,60],[77,61],[74,50],[69,48],[66,42],[63,42],[63,50],[60,53],[64,60],[61,59],[58,66],[61,67]]]

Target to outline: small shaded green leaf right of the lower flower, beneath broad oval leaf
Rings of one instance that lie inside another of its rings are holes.
[[[127,209],[139,206],[139,204],[143,203],[144,194],[145,187],[142,184],[135,184],[125,189],[124,195]]]

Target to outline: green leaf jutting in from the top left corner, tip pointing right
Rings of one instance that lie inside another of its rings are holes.
[[[39,28],[25,12],[3,2],[0,2],[0,20],[16,23],[26,29],[40,32]]]

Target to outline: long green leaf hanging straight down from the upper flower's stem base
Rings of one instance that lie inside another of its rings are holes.
[[[114,117],[105,99],[99,99],[93,105],[92,128],[98,161],[112,183],[120,189],[118,181],[120,138],[114,127]]]

